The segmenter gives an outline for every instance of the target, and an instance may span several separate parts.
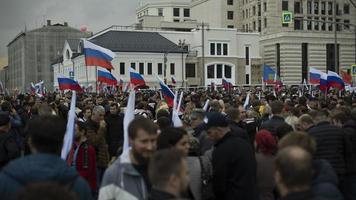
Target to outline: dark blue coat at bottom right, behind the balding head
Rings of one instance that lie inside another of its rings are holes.
[[[315,160],[313,162],[314,177],[312,182],[312,192],[315,196],[326,199],[343,200],[343,196],[338,189],[338,178],[325,160]]]

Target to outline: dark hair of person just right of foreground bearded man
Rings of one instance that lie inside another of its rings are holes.
[[[157,138],[157,149],[166,149],[175,146],[184,135],[188,133],[181,128],[166,128]]]

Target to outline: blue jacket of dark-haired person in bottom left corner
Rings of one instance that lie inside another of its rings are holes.
[[[15,199],[26,185],[54,181],[75,192],[80,199],[92,199],[88,183],[59,156],[33,154],[10,162],[0,172],[0,196]]]

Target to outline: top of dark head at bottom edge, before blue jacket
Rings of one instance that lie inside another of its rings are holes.
[[[60,194],[60,195],[58,195]],[[17,200],[79,200],[78,196],[54,182],[32,183],[17,196]]]

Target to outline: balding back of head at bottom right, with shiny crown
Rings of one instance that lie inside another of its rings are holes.
[[[312,156],[304,149],[292,146],[280,150],[275,160],[276,182],[289,191],[310,188],[312,180]]]

